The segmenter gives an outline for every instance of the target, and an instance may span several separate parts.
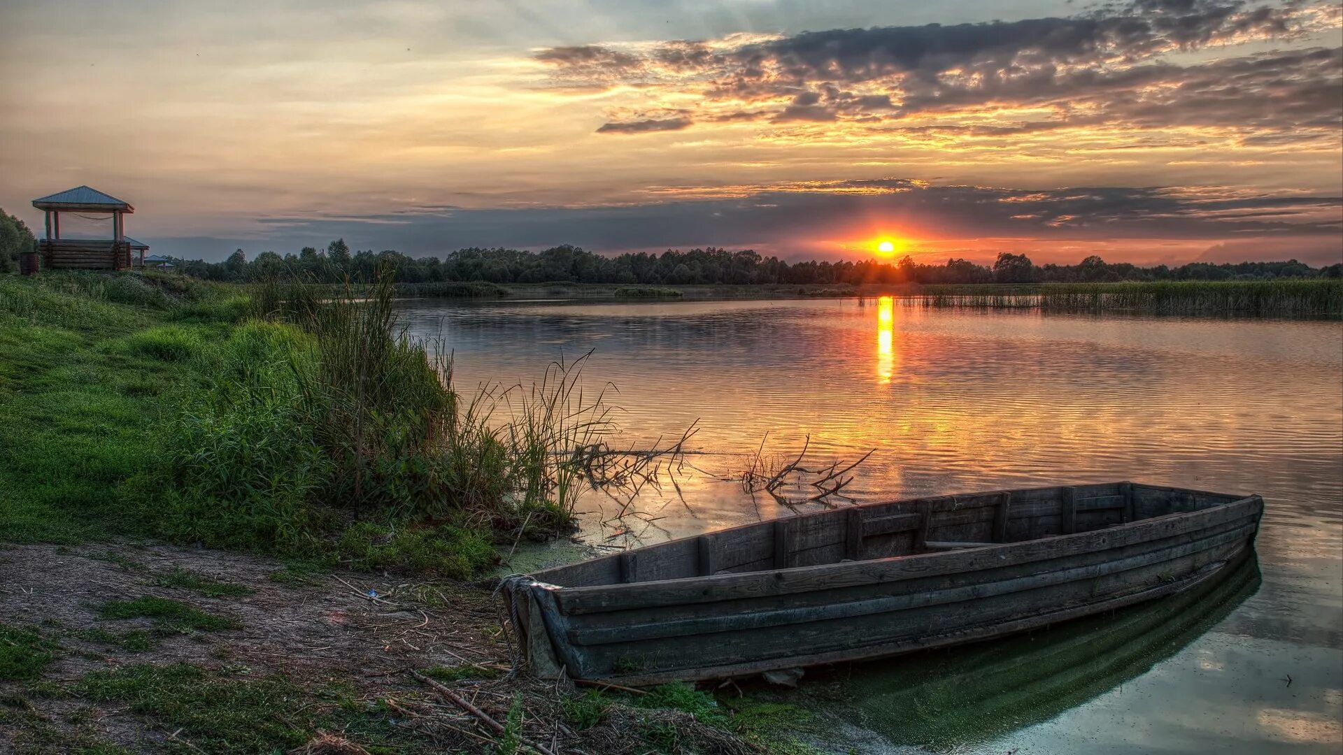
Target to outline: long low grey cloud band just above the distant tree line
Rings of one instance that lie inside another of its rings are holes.
[[[673,187],[669,193],[693,197],[712,191]],[[967,243],[976,238],[1026,239],[1023,247],[1030,240],[1070,239],[1206,239],[1209,245],[1236,239],[1240,245],[1250,239],[1313,238],[1312,249],[1339,250],[1343,245],[1343,197],[1338,196],[1225,188],[1026,191],[878,179],[745,188],[724,199],[618,207],[287,218],[283,226],[269,228],[263,239],[239,246],[291,251],[344,236],[360,249],[396,249],[412,255],[466,246],[536,249],[576,243],[598,251],[755,246],[784,257],[811,258],[817,254],[814,239],[851,238],[872,218]],[[200,254],[177,247],[163,251]]]

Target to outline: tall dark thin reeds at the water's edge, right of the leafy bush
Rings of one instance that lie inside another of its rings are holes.
[[[603,394],[584,394],[584,360],[463,402],[441,344],[398,324],[395,293],[388,273],[342,289],[267,282],[254,296],[259,314],[314,340],[294,375],[304,423],[333,463],[322,500],[403,519],[467,513],[501,529],[569,527],[584,450],[612,425]]]

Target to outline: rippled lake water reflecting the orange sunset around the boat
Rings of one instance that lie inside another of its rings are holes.
[[[694,442],[708,451],[696,466],[710,476],[682,480],[685,505],[642,497],[641,508],[663,517],[635,532],[645,541],[784,513],[712,480],[740,472],[767,433],[766,451],[779,457],[804,437],[818,461],[876,449],[847,489],[858,501],[1123,478],[1257,492],[1268,501],[1262,587],[1127,688],[1151,704],[1133,708],[1111,691],[1009,740],[1070,748],[1076,738],[1060,732],[1089,727],[1116,751],[1143,751],[1143,736],[1160,735],[1176,751],[1215,743],[1249,752],[1336,735],[1319,721],[1343,717],[1339,322],[1042,317],[854,300],[415,301],[404,316],[414,333],[442,336],[454,351],[459,387],[529,383],[545,363],[595,349],[584,387],[618,388],[608,395],[622,407],[620,442],[650,443],[696,422]],[[1273,693],[1256,708],[1285,673],[1307,680],[1293,685],[1301,695]],[[1189,674],[1209,684],[1180,681]],[[1152,716],[1135,728],[1129,709]],[[1223,736],[1210,709],[1237,711],[1244,731]]]

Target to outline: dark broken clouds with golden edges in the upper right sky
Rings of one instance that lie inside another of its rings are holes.
[[[1336,15],[1313,0],[1135,0],[1070,17],[557,47],[535,59],[556,85],[635,85],[649,105],[693,95],[697,122],[995,121],[964,124],[980,129],[964,136],[983,138],[1011,133],[1015,109],[1034,113],[1031,130],[1213,126],[1319,141],[1343,118],[1343,50],[1240,46],[1307,39],[1336,27]]]

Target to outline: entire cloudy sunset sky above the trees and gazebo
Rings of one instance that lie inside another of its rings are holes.
[[[4,0],[0,99],[180,257],[1343,259],[1334,0]]]

